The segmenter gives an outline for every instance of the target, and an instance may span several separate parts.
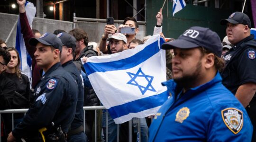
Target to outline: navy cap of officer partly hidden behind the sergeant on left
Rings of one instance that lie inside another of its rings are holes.
[[[72,48],[72,50],[75,51],[76,39],[74,38],[74,36],[63,32],[63,33],[59,33],[57,37],[61,39],[62,44],[64,44],[68,48]]]

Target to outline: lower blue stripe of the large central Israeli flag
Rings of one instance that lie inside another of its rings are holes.
[[[158,95],[141,98],[126,104],[110,107],[108,111],[110,112],[111,117],[115,119],[124,115],[128,115],[129,113],[137,113],[150,108],[159,107],[165,103],[167,97],[168,91],[165,91]]]

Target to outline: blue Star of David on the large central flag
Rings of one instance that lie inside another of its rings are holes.
[[[139,88],[139,90],[141,91],[142,95],[144,95],[144,93],[149,90],[149,91],[154,91],[155,92],[155,89],[153,88],[152,86],[152,80],[153,80],[153,76],[149,76],[149,75],[146,75],[144,72],[141,71],[141,68],[139,68],[139,70],[137,71],[136,74],[134,73],[131,73],[131,72],[127,72],[128,75],[131,77],[131,80],[127,83],[127,84],[131,84],[131,85],[135,85]],[[146,81],[148,82],[146,87],[140,85],[136,79],[139,78],[139,77],[143,77],[146,79]]]

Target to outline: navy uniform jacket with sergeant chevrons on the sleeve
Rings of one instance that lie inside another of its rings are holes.
[[[78,87],[73,77],[58,62],[41,78],[35,87],[34,105],[22,122],[12,131],[15,138],[37,136],[38,129],[61,126],[68,132],[77,103]]]

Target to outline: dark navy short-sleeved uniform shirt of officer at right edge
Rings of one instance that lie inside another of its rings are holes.
[[[236,94],[240,85],[247,82],[256,83],[256,42],[255,46],[247,45],[254,40],[250,35],[233,46],[222,58],[226,67],[221,72],[223,85]]]

